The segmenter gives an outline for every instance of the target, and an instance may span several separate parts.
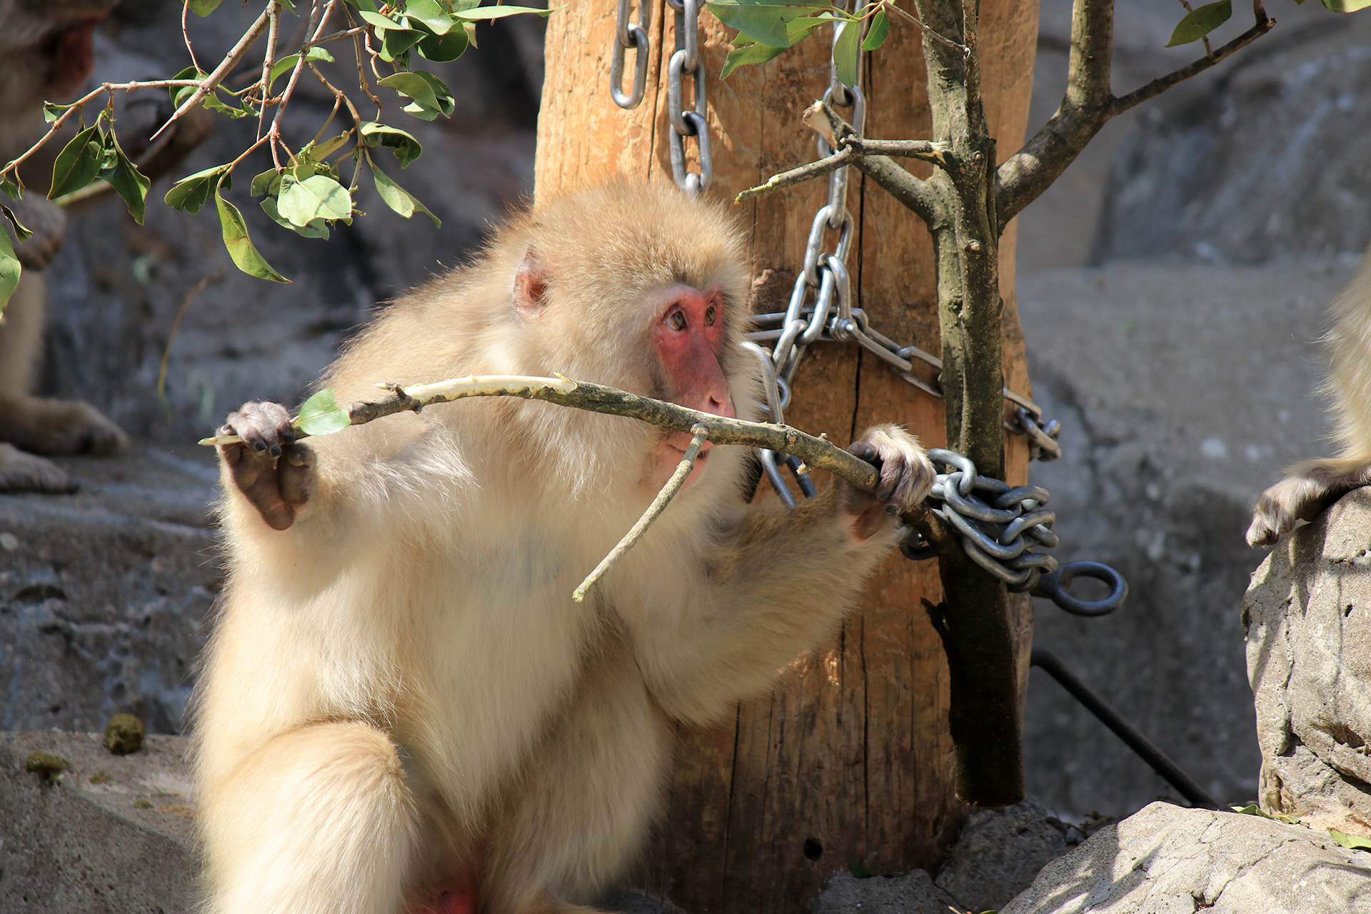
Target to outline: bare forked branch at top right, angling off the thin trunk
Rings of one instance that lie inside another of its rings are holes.
[[[1271,30],[1260,0],[1253,4],[1250,29],[1212,55],[1116,99],[1109,90],[1109,58],[1113,48],[1113,0],[1076,0],[1071,26],[1071,60],[1067,95],[1061,107],[1024,147],[1009,156],[995,174],[999,226],[1038,199],[1067,170],[1086,144],[1111,119],[1167,89],[1204,73]]]

